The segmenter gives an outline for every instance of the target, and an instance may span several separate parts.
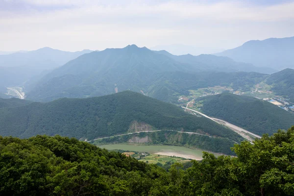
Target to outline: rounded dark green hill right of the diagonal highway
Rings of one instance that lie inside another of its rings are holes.
[[[223,93],[201,100],[203,113],[259,135],[294,125],[294,114],[257,98]]]

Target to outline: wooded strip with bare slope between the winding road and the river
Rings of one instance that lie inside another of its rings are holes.
[[[140,141],[140,142],[139,142]],[[144,142],[143,142],[144,141]],[[228,138],[213,138],[209,136],[179,133],[176,131],[141,132],[131,135],[116,136],[96,140],[95,144],[109,143],[144,143],[150,145],[172,145],[196,147],[207,151],[234,155],[230,150],[235,142]]]

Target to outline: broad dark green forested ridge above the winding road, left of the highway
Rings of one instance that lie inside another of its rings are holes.
[[[134,128],[134,123],[139,124]],[[132,126],[133,125],[133,126]],[[37,134],[87,138],[88,140],[140,130],[139,127],[173,129],[240,141],[230,129],[181,108],[125,91],[96,98],[61,98],[48,103],[0,109],[0,135],[30,137]]]

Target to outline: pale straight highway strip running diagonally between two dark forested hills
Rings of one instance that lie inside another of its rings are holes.
[[[201,112],[198,112],[196,110],[193,110],[193,109],[190,109],[190,108],[187,108],[187,107],[182,107],[182,108],[187,109],[187,110],[190,110],[190,111],[193,111],[193,112],[196,112],[197,114],[200,114],[200,115],[202,115],[202,116],[204,116],[204,117],[206,117],[206,118],[208,118],[208,119],[210,119],[210,120],[212,120],[212,121],[214,121],[216,123],[222,124],[222,125],[230,128],[230,129],[232,129],[233,131],[235,131],[236,133],[238,133],[239,135],[241,135],[242,137],[244,137],[248,141],[253,141],[253,139],[251,137],[249,137],[247,134],[250,134],[250,135],[252,135],[254,137],[257,137],[257,138],[261,138],[261,136],[259,136],[259,135],[256,135],[254,133],[251,133],[250,131],[247,131],[247,130],[239,127],[239,126],[236,126],[234,124],[228,123],[228,122],[223,121],[221,119],[211,118],[211,117],[209,117],[209,116],[207,116],[207,115],[205,115],[205,114],[203,114]]]

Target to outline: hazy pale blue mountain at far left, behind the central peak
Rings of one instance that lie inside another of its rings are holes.
[[[23,85],[46,70],[53,70],[91,50],[68,52],[42,48],[0,55],[0,86]]]

